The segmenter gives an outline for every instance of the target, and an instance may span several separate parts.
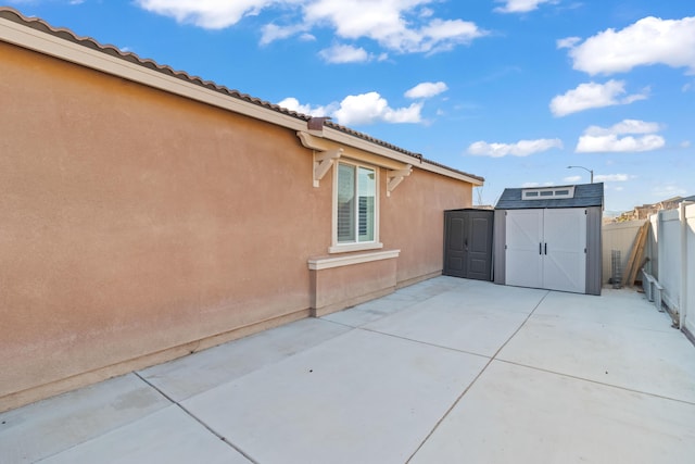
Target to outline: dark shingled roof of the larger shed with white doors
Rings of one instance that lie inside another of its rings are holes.
[[[495,210],[530,210],[540,208],[587,208],[604,205],[604,184],[578,184],[555,186],[553,188],[574,187],[572,198],[551,198],[523,200],[521,192],[526,188],[506,188],[495,205]]]

